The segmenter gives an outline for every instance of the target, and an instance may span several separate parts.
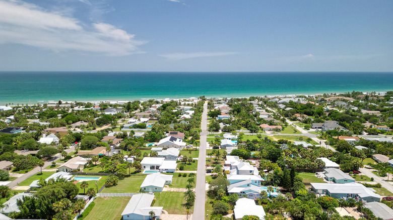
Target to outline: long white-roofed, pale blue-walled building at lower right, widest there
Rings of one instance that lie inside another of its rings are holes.
[[[311,183],[311,190],[318,195],[329,195],[333,198],[353,198],[356,201],[380,201],[381,196],[372,188],[356,182],[351,183]]]

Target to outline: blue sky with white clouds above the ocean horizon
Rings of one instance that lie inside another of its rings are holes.
[[[0,71],[393,71],[393,1],[0,0]]]

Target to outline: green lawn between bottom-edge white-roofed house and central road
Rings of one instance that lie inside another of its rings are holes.
[[[183,192],[156,192],[154,195],[156,196],[156,202],[153,206],[163,206],[169,214],[185,213]],[[190,210],[190,214],[192,211],[193,207]]]

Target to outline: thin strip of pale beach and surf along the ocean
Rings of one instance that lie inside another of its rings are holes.
[[[392,89],[393,90],[393,89]],[[352,90],[353,91],[353,90]],[[241,95],[235,95],[235,94],[232,94],[232,95],[215,95],[215,96],[206,96],[205,95],[205,97],[206,98],[218,98],[218,99],[222,99],[222,98],[249,98],[249,97],[251,97],[251,96],[256,96],[256,97],[264,97],[264,96],[267,96],[267,97],[270,97],[270,98],[272,98],[272,97],[294,97],[294,96],[300,96],[300,95],[304,95],[304,96],[310,96],[310,95],[315,95],[315,94],[342,94],[342,93],[346,93],[346,92],[352,92],[352,91],[337,91],[337,92],[311,92],[311,93],[299,93],[299,94],[294,94],[294,93],[287,93],[287,94],[285,94],[285,93],[283,93],[283,94],[274,94],[274,95],[272,95],[272,94],[241,94]],[[382,92],[387,92],[387,91],[390,91],[390,90],[386,90],[386,91],[368,91],[368,92],[365,92],[365,91],[359,91],[359,92],[362,92],[362,93],[371,93],[371,92],[376,92],[376,93],[382,93]],[[27,102],[21,102],[21,101],[19,101],[19,102],[13,102],[13,101],[8,101],[8,102],[3,102],[3,101],[0,101],[0,105],[5,105],[5,104],[9,104],[10,102],[11,103],[14,103],[14,104],[12,104],[12,105],[9,105],[9,106],[17,106],[17,104],[16,103],[19,103],[19,105],[21,105],[21,104],[29,104],[29,105],[35,105],[35,104],[45,104],[45,103],[48,103],[49,101],[58,101],[58,100],[63,100],[63,103],[65,103],[65,102],[75,102],[75,101],[78,101],[78,102],[85,102],[85,103],[87,103],[87,102],[90,102],[90,103],[100,103],[100,102],[105,102],[105,103],[118,103],[118,102],[124,102],[124,103],[126,103],[126,102],[128,102],[128,101],[136,101],[136,100],[139,100],[139,101],[141,101],[141,102],[143,102],[143,101],[147,101],[147,100],[151,100],[151,99],[154,99],[154,100],[183,100],[183,99],[189,99],[189,98],[191,98],[191,97],[196,97],[196,98],[199,98],[201,95],[189,95],[189,96],[179,96],[179,97],[170,97],[170,96],[165,96],[165,97],[151,97],[151,98],[127,98],[127,99],[124,99],[124,98],[115,98],[115,99],[106,99],[106,98],[103,98],[103,99],[79,99],[79,98],[74,98],[74,99],[72,99],[72,98],[67,98],[67,99],[61,99],[61,98],[59,98],[59,99],[50,99],[50,100],[38,100],[38,101],[27,101]]]

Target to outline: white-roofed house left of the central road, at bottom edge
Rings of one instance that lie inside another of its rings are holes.
[[[121,215],[124,220],[128,219],[149,219],[149,212],[154,211],[159,218],[162,213],[160,206],[151,206],[154,195],[141,193],[131,197]]]

